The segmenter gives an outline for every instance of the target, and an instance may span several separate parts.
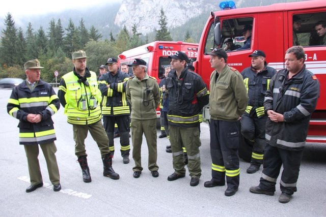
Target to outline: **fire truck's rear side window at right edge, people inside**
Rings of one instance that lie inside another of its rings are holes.
[[[326,45],[326,12],[293,14],[292,22],[293,44],[301,46]]]

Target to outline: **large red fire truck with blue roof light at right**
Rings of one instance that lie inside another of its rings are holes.
[[[301,27],[293,29],[293,18],[300,20]],[[326,46],[318,45],[315,24],[326,21],[326,1],[315,0],[295,3],[281,3],[263,7],[239,8],[211,12],[204,27],[197,61],[194,66],[209,86],[212,69],[209,64],[210,52],[215,47],[224,47],[224,41],[232,39],[243,45],[242,28],[252,26],[251,47],[228,52],[227,64],[241,72],[249,67],[248,57],[254,50],[266,53],[268,66],[280,70],[284,67],[285,51],[293,46],[293,33],[306,53],[305,64],[320,82],[320,98],[312,115],[308,142],[326,142]],[[205,112],[207,115],[207,112]],[[295,135],[293,135],[295,136]]]

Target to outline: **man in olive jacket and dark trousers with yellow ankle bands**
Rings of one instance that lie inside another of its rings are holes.
[[[204,186],[225,185],[225,196],[234,195],[239,188],[239,129],[238,120],[247,107],[247,90],[240,73],[229,67],[228,54],[222,48],[210,53],[210,64],[215,69],[210,76],[210,156],[212,179]]]

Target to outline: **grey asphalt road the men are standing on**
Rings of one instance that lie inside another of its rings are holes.
[[[40,151],[44,186],[25,193],[30,185],[29,173],[24,148],[18,144],[18,120],[6,109],[10,93],[0,90],[0,216],[326,216],[326,144],[307,144],[298,191],[287,204],[278,202],[279,179],[275,196],[251,194],[249,188],[259,183],[261,170],[247,174],[249,163],[244,161],[240,161],[240,187],[234,196],[224,196],[226,186],[204,188],[204,182],[211,178],[209,129],[205,123],[201,125],[202,177],[197,187],[189,185],[188,172],[185,178],[167,180],[173,173],[172,155],[165,152],[167,138],[157,139],[159,177],[152,177],[147,169],[144,139],[144,170],[140,178],[133,178],[132,158],[129,164],[122,163],[119,138],[115,139],[113,168],[120,179],[104,177],[100,153],[90,135],[86,147],[92,182],[84,183],[74,155],[72,126],[63,108],[53,116],[62,190],[53,192]]]

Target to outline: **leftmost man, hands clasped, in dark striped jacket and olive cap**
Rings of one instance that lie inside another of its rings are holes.
[[[31,179],[26,192],[43,186],[38,144],[44,154],[53,191],[58,192],[61,185],[54,142],[57,138],[51,117],[59,110],[60,102],[51,85],[40,79],[43,67],[38,59],[27,61],[24,69],[27,79],[12,90],[7,111],[19,119],[19,144],[24,145]]]

